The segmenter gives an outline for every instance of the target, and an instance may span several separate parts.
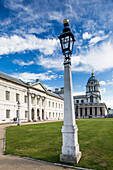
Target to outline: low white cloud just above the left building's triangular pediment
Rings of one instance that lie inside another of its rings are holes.
[[[40,81],[44,81],[44,80],[51,80],[57,78],[57,74],[50,74],[49,72],[38,73],[38,74],[29,73],[29,72],[14,73],[12,76],[21,79],[25,82],[34,82],[36,79],[39,79]]]

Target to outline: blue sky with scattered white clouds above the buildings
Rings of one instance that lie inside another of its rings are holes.
[[[102,101],[113,108],[112,0],[0,0],[0,71],[49,89],[63,87],[63,55],[57,38],[70,20],[76,42],[73,92],[85,93],[94,69]]]

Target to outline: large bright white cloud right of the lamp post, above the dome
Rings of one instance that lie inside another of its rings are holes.
[[[91,72],[94,69],[94,71],[102,72],[111,69],[113,68],[113,44],[111,41],[103,42],[77,58],[77,62],[72,62],[73,71]]]

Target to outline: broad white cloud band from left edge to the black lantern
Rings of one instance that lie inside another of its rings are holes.
[[[58,43],[59,40],[41,39],[34,35],[26,35],[25,38],[17,35],[0,37],[0,55],[35,49],[38,49],[45,55],[51,55]]]

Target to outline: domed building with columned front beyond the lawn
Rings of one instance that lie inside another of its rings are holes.
[[[86,95],[74,96],[75,114],[77,118],[104,118],[107,106],[101,102],[100,85],[92,71],[86,85]]]

